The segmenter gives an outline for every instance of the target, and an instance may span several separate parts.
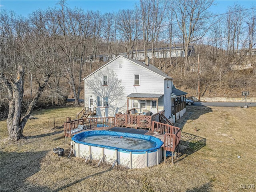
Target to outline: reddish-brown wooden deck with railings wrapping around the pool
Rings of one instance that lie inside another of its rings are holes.
[[[90,131],[90,130],[110,130],[113,128],[114,130],[112,131],[143,134],[143,135],[149,135],[149,136],[154,136],[156,138],[159,138],[164,143],[162,145],[162,148],[164,149],[164,153],[165,153],[164,158],[166,158],[166,151],[172,152],[172,163],[173,163],[174,152],[176,151],[176,149],[178,150],[178,145],[180,144],[180,138],[181,138],[180,128],[174,127],[170,124],[166,124],[166,122],[165,123],[159,122],[159,120],[155,121],[157,120],[157,118],[154,116],[153,116],[154,119],[152,119],[152,116],[138,117],[138,116],[128,116],[126,114],[124,117],[122,117],[121,115],[123,114],[118,114],[118,115],[117,115],[118,117],[116,116],[116,117],[106,117],[106,118],[84,118],[84,119],[73,120],[70,122],[65,122],[64,135],[66,138],[66,144],[67,144],[67,138],[72,137],[77,133],[81,133],[83,131]],[[143,118],[140,118],[140,117],[143,117]],[[145,124],[144,126],[139,124],[139,123],[143,124],[144,121],[147,122],[147,124]],[[123,122],[126,122],[126,123],[122,124]],[[131,128],[132,126],[130,125],[136,125],[136,128]],[[74,131],[77,131],[80,129],[78,128],[78,126],[86,126],[87,129],[74,133]],[[74,130],[73,133],[72,133],[72,130]]]

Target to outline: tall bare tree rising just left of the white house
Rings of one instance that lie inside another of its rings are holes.
[[[80,90],[84,57],[86,55],[87,38],[89,36],[90,17],[80,9],[71,10],[65,1],[60,1],[60,9],[56,10],[56,22],[60,30],[58,41],[63,55],[63,66],[72,88],[75,105],[80,105]],[[76,77],[78,79],[76,79]]]

